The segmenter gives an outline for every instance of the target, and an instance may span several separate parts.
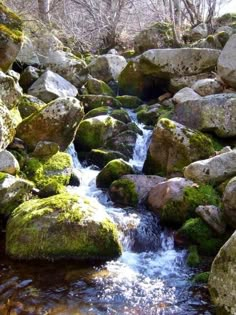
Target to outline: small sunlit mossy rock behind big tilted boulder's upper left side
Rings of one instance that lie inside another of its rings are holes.
[[[21,117],[24,119],[34,113],[37,113],[46,106],[46,103],[35,96],[25,94],[21,96],[16,105],[19,109]]]

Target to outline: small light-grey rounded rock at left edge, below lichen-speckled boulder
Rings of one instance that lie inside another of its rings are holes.
[[[20,166],[14,155],[7,150],[0,151],[0,172],[15,175],[19,170]]]

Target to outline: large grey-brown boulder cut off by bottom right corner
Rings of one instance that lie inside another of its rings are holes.
[[[208,287],[218,314],[236,313],[236,232],[223,245],[213,261]]]

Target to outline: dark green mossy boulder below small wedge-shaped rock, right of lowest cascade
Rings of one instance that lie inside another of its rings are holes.
[[[199,253],[206,256],[216,255],[226,240],[217,237],[201,218],[187,220],[177,233],[189,243],[197,245]]]

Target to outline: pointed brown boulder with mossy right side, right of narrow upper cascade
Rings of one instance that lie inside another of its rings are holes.
[[[213,153],[212,142],[207,136],[162,118],[153,130],[143,170],[150,175],[178,174],[191,162]]]

